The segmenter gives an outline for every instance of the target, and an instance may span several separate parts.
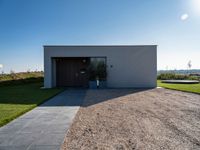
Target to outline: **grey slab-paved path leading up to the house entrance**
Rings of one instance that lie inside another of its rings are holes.
[[[85,97],[66,90],[0,128],[0,150],[57,150]]]

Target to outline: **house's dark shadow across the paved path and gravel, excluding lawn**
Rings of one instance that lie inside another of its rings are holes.
[[[122,96],[144,92],[150,89],[68,89],[51,98],[39,107],[81,106],[88,107]]]

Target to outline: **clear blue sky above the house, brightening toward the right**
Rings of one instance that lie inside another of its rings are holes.
[[[200,68],[199,1],[0,0],[0,71],[42,70],[59,44],[153,44],[158,69]]]

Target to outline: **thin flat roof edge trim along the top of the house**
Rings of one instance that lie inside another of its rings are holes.
[[[143,47],[158,45],[43,45],[43,47]]]

